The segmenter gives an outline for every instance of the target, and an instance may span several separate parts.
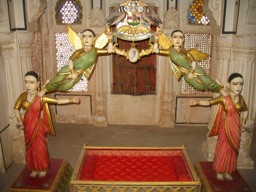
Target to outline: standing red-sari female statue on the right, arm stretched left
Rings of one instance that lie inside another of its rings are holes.
[[[236,171],[236,161],[240,147],[241,131],[245,131],[248,109],[244,98],[240,95],[244,78],[239,73],[232,73],[228,78],[229,95],[219,96],[211,100],[194,101],[189,104],[209,106],[219,104],[209,137],[219,135],[214,153],[212,170],[217,173],[218,180],[233,180],[230,174]],[[225,114],[223,114],[223,111]],[[240,113],[243,111],[242,123]]]

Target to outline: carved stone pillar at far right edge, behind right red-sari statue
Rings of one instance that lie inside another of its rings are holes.
[[[238,72],[244,77],[244,85],[241,95],[243,95],[246,101],[249,112],[245,126],[252,130],[252,132],[242,132],[241,134],[237,167],[253,169],[254,162],[249,157],[249,153],[256,114],[256,35],[233,35],[232,48],[233,62],[230,64],[229,72],[230,74]]]

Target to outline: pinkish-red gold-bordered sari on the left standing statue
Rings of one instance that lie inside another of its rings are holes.
[[[45,132],[51,132],[52,121],[47,114],[47,109],[48,106],[43,105],[42,98],[36,96],[28,106],[24,116],[25,146],[29,171],[42,172],[50,168]],[[42,110],[44,114],[41,119]]]

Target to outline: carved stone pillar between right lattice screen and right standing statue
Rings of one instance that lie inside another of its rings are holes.
[[[226,82],[228,79],[228,68],[229,68],[229,59],[230,59],[230,50],[231,50],[231,42],[232,42],[232,35],[228,36],[214,36],[215,40],[215,46],[217,47],[216,52],[217,52],[217,76],[216,78],[220,79],[220,82],[224,84],[224,88],[226,86]],[[220,93],[214,93],[213,98],[219,96]],[[215,113],[217,111],[217,105],[212,106],[211,111],[210,111],[210,123],[208,125],[209,131],[211,130],[212,122],[215,117]],[[218,137],[210,137],[208,138],[207,134],[207,139],[205,142],[203,142],[203,151],[205,155],[208,158],[208,161],[213,160],[214,152],[215,152],[215,147],[217,143]]]

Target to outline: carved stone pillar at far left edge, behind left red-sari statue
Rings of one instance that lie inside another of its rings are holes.
[[[13,152],[14,160],[16,163],[25,163],[25,140],[23,130],[17,129],[14,125],[17,124],[13,112],[13,106],[16,103],[20,93],[23,92],[23,86],[20,86],[22,80],[21,66],[19,64],[19,59],[17,55],[17,49],[15,46],[16,32],[10,33],[0,33],[0,44],[1,44],[1,55],[4,57],[5,73],[8,92],[6,93],[9,98],[9,110],[10,110],[10,126],[12,134]],[[15,77],[15,78],[13,78]],[[23,111],[21,111],[21,116],[23,116]]]

